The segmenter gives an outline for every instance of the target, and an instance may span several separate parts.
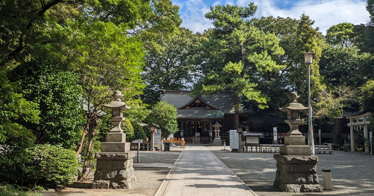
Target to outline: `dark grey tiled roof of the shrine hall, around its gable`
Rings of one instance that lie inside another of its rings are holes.
[[[161,101],[166,101],[180,108],[190,103],[194,97],[190,97],[191,91],[163,91]],[[224,114],[234,113],[234,92],[220,91],[211,96],[202,96],[204,102],[217,109],[178,109],[178,118],[223,118]]]

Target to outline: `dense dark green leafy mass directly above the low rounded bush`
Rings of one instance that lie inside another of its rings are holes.
[[[80,139],[84,123],[82,87],[77,74],[56,69],[55,63],[59,61],[48,59],[48,51],[44,52],[9,74],[11,78],[21,80],[25,98],[39,105],[39,123],[22,124],[33,130],[39,144],[73,149]]]

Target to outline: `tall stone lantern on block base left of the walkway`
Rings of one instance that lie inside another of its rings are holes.
[[[121,129],[125,120],[122,112],[130,107],[120,100],[123,97],[121,91],[115,91],[113,97],[114,100],[104,108],[112,110],[109,119],[114,127],[106,141],[101,142],[101,151],[95,153],[97,162],[92,189],[130,189],[137,183],[132,167],[135,151],[130,151],[130,142],[125,142],[126,133]]]

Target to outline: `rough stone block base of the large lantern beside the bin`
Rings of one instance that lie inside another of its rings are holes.
[[[317,156],[274,154],[277,171],[273,186],[283,192],[323,192],[317,175]]]

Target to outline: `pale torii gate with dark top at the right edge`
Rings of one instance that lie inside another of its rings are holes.
[[[364,127],[364,138],[365,138],[365,153],[369,153],[369,144],[367,142],[368,139],[368,124],[370,124],[370,121],[366,120],[366,117],[371,115],[371,109],[362,109],[355,113],[348,113],[344,112],[343,117],[346,117],[349,119],[349,123],[347,126],[350,127],[350,139],[351,139],[351,151],[355,151],[355,141],[354,141],[354,135],[353,130],[355,127]],[[359,118],[362,118],[362,121],[360,121]]]

